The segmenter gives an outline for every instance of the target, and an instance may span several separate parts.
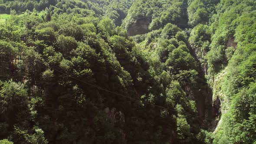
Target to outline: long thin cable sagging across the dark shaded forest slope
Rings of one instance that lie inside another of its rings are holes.
[[[48,65],[48,66],[49,66],[49,65]],[[174,109],[171,109],[171,108],[165,108],[165,107],[162,107],[162,106],[160,106],[160,105],[155,105],[155,104],[151,104],[151,103],[149,103],[149,102],[140,101],[140,100],[138,100],[138,99],[136,99],[136,98],[131,98],[131,97],[129,97],[129,96],[122,95],[122,94],[119,94],[119,93],[116,93],[116,92],[112,92],[112,91],[109,91],[109,90],[107,90],[107,89],[105,89],[105,88],[102,88],[102,87],[99,87],[99,86],[96,86],[96,85],[92,85],[92,84],[90,84],[90,83],[88,83],[88,82],[82,81],[82,80],[77,79],[77,78],[75,78],[75,77],[73,77],[73,76],[71,76],[71,75],[68,75],[68,74],[66,74],[66,73],[64,73],[64,72],[61,72],[61,71],[59,71],[59,70],[57,70],[57,69],[54,69],[54,68],[51,67],[51,66],[49,66],[49,68],[51,68],[51,69],[53,69],[53,70],[56,70],[57,72],[60,72],[60,73],[66,75],[66,76],[68,76],[68,77],[70,77],[70,78],[72,78],[72,79],[78,80],[78,81],[80,81],[80,82],[83,82],[83,83],[85,83],[85,84],[87,84],[87,85],[90,85],[90,86],[93,86],[93,87],[95,87],[95,88],[104,90],[104,91],[106,91],[106,92],[110,92],[110,93],[115,94],[115,95],[119,95],[119,96],[122,96],[122,97],[125,97],[125,98],[129,98],[129,99],[134,100],[134,101],[139,101],[139,102],[144,103],[144,104],[147,104],[147,105],[154,105],[154,106],[156,106],[156,107],[158,107],[158,108],[164,108],[164,109],[167,109],[167,110],[176,112]],[[215,120],[215,119],[200,117],[200,116],[198,116],[198,115],[192,115],[192,114],[189,114],[189,113],[186,113],[186,112],[183,112],[183,114],[184,114],[184,115],[194,116],[194,117],[197,117],[197,118],[203,118],[203,119],[211,120],[211,121]]]

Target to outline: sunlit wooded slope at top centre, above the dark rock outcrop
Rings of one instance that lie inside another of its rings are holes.
[[[183,14],[186,10],[182,7],[186,7],[184,0],[135,0],[123,25],[128,29],[133,24],[138,25],[145,21],[145,25],[152,31],[164,27],[167,23],[183,23],[187,18]]]

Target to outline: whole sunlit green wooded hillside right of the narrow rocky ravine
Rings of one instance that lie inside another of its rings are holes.
[[[213,85],[218,88],[217,96],[224,101],[226,113],[212,134],[213,144],[254,143],[252,129],[255,127],[251,121],[254,117],[251,108],[255,103],[251,100],[255,97],[255,77],[252,75],[255,73],[255,44],[252,37],[255,36],[251,35],[251,22],[255,21],[253,5],[253,1],[223,0],[217,6],[216,21],[212,24],[212,27],[217,27],[213,29],[215,32],[207,54],[208,76],[214,79],[225,68]]]

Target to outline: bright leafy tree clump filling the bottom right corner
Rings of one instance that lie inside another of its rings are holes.
[[[230,141],[231,143],[243,142],[246,144],[254,142],[255,101],[252,98],[255,98],[255,88],[255,83],[252,83],[249,85],[249,88],[243,88],[243,90],[235,95],[231,102],[230,111],[223,115],[222,127],[214,135],[214,144],[225,141]],[[245,99],[246,101],[244,101]]]

